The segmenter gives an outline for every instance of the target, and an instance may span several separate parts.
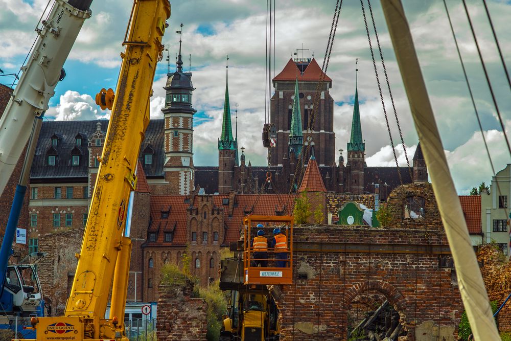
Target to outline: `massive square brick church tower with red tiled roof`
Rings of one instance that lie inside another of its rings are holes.
[[[314,95],[318,81],[324,73],[314,58],[290,59],[284,70],[273,78],[275,93],[271,98],[270,123],[277,128],[277,146],[272,148],[269,155],[272,166],[283,164],[283,159],[289,156],[293,106],[299,108],[302,129],[312,130],[312,140],[315,147],[315,157],[319,166],[331,166],[335,162],[335,133],[334,133],[334,100],[330,97],[332,79],[324,75],[320,88],[318,110],[312,122],[311,110],[314,105]],[[297,86],[296,86],[297,83]],[[295,91],[298,88],[298,98]],[[303,155],[303,160],[309,160],[310,155]],[[296,154],[296,157],[298,155]]]

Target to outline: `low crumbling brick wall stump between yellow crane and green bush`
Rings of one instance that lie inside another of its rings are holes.
[[[160,284],[158,290],[158,340],[205,340],[207,304],[204,299],[191,298],[193,283]]]

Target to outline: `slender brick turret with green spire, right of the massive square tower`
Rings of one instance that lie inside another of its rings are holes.
[[[348,154],[346,163],[347,176],[344,190],[353,194],[364,194],[365,143],[362,139],[357,85],[355,85],[351,138],[346,149]]]

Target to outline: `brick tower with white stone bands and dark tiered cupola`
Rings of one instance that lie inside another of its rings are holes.
[[[181,40],[177,70],[168,74],[165,108],[165,180],[171,195],[189,195],[194,190],[192,74],[183,72]],[[148,155],[149,153],[145,153]],[[150,154],[149,154],[150,155]],[[147,157],[147,156],[146,156]]]

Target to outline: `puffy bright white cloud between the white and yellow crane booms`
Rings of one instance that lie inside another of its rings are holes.
[[[87,94],[80,95],[76,91],[67,90],[60,96],[56,107],[47,111],[47,116],[54,116],[55,121],[99,120],[110,117],[109,110],[101,110],[96,101]]]

